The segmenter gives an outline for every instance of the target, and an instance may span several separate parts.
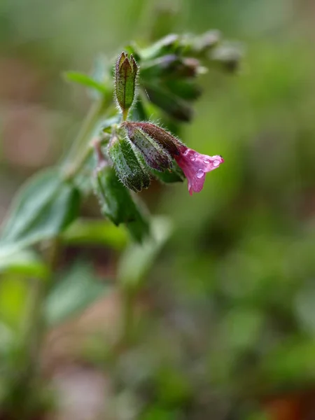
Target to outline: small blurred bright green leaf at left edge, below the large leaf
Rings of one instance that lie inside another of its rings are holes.
[[[5,258],[1,258],[0,255],[0,273],[3,272],[45,279],[48,276],[49,269],[36,253],[19,251],[12,255],[6,255]]]

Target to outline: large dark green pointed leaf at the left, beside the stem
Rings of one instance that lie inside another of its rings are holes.
[[[77,216],[80,193],[57,169],[27,181],[2,228],[0,258],[16,249],[57,236]]]

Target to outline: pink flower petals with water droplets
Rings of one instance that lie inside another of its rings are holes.
[[[181,146],[179,148],[179,155],[174,155],[174,158],[181,169],[183,169],[183,173],[188,180],[188,191],[190,195],[200,193],[204,186],[207,172],[213,171],[224,162],[223,158],[219,155],[201,155],[186,146]]]

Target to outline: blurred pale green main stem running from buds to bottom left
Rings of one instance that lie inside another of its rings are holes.
[[[92,148],[89,141],[97,128],[100,118],[106,109],[111,105],[111,98],[106,97],[95,102],[83,125],[78,132],[78,136],[73,141],[66,162],[64,162],[63,172],[65,179],[73,179],[80,171],[85,160],[90,156]],[[45,337],[45,319],[43,316],[43,304],[48,290],[52,283],[52,274],[57,266],[59,255],[59,240],[52,238],[45,248],[45,260],[50,269],[49,279],[31,279],[29,291],[29,304],[25,325],[23,325],[22,342],[23,349],[21,354],[21,369],[18,381],[14,384],[13,399],[8,401],[8,412],[14,419],[20,420],[31,418],[38,409],[41,409],[40,372],[39,360],[41,358],[41,346]],[[15,400],[19,400],[18,407],[15,407]]]

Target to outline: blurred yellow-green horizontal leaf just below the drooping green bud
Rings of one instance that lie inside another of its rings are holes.
[[[120,251],[127,244],[127,233],[113,223],[97,219],[78,219],[61,235],[64,244],[104,245]]]

